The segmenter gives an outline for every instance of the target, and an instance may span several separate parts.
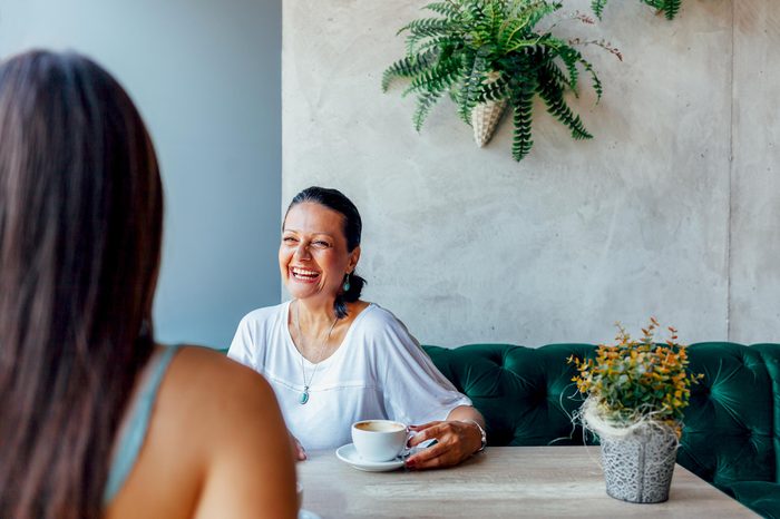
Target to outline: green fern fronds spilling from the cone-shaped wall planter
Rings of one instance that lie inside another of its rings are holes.
[[[595,43],[621,58],[604,41],[565,41],[537,26],[563,4],[548,0],[446,0],[425,9],[438,14],[408,23],[407,55],[382,76],[382,90],[399,78],[410,80],[403,95],[417,95],[412,116],[419,131],[431,108],[445,95],[457,105],[458,114],[471,124],[480,104],[506,102],[515,126],[511,154],[521,160],[533,146],[533,101],[539,96],[547,111],[565,125],[575,139],[589,139],[565,99],[577,94],[579,72],[585,70],[597,99],[602,84],[592,65],[575,46]],[[593,20],[576,14],[586,23]]]

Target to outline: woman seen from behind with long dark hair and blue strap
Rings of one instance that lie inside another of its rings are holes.
[[[154,342],[163,227],[129,97],[76,53],[0,66],[0,517],[294,517],[269,384]]]

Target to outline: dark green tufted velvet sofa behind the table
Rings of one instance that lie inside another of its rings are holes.
[[[582,400],[566,359],[593,356],[594,345],[423,347],[485,415],[489,444],[583,443],[569,418]],[[704,379],[691,391],[677,462],[758,513],[780,518],[780,344],[698,343],[689,359]]]

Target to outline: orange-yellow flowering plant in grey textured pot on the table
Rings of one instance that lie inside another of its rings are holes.
[[[685,346],[677,333],[654,342],[659,323],[650,320],[641,340],[618,324],[616,344],[602,344],[595,359],[568,359],[572,380],[586,395],[579,418],[602,445],[606,491],[631,502],[661,502],[669,488],[691,384]]]

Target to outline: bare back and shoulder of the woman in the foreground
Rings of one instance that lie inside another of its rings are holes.
[[[106,517],[295,517],[294,481],[267,383],[221,354],[185,347],[160,384],[144,447]]]

